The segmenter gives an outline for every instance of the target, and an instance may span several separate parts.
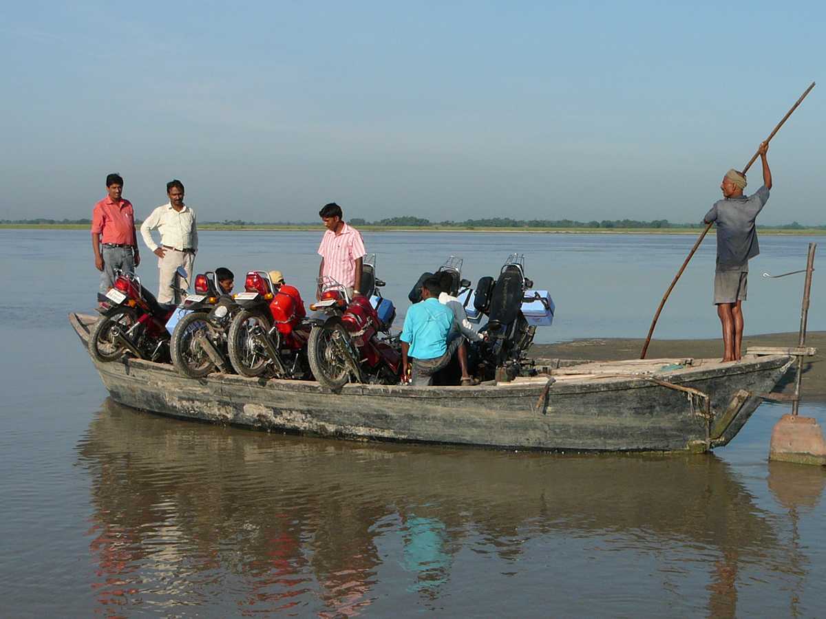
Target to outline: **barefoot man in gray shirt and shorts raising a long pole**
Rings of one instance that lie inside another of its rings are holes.
[[[746,177],[729,170],[720,189],[723,200],[705,215],[705,223],[717,222],[717,268],[714,270],[714,305],[723,325],[723,361],[739,361],[743,345],[743,301],[746,300],[748,261],[760,253],[754,220],[769,199],[771,170],[766,142],[757,152],[763,166],[763,186],[751,196],[744,196]]]

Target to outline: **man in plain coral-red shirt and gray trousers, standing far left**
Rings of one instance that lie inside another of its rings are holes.
[[[106,177],[107,196],[92,210],[92,251],[95,267],[101,272],[98,300],[115,282],[115,269],[134,273],[140,264],[135,236],[135,211],[124,200],[123,178],[113,173]]]

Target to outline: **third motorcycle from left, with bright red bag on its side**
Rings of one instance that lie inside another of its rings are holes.
[[[235,303],[240,309],[228,335],[235,371],[242,376],[305,378],[310,325],[297,288],[273,285],[267,272],[250,271]]]

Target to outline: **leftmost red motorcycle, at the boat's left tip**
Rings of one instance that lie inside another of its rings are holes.
[[[184,280],[187,273],[178,275]],[[149,361],[169,360],[166,323],[174,305],[161,304],[132,273],[116,272],[114,286],[106,293],[107,307],[89,333],[89,352],[103,363],[116,361],[126,352]]]

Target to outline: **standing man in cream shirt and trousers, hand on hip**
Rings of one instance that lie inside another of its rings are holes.
[[[160,278],[158,284],[158,302],[181,302],[178,291],[173,286],[180,286],[178,267],[187,272],[188,281],[192,281],[192,267],[198,250],[198,229],[195,223],[195,211],[183,203],[183,182],[175,179],[166,184],[169,202],[159,206],[144,220],[140,226],[140,235],[146,247],[158,257]],[[152,239],[152,230],[160,233],[160,245]]]

